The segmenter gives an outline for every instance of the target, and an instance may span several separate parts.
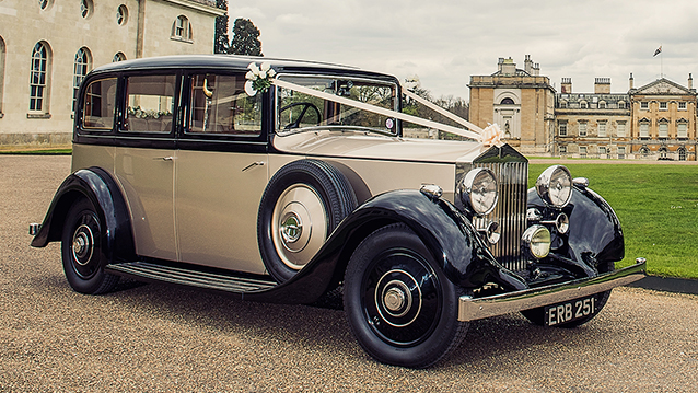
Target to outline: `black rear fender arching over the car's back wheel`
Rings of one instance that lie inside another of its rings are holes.
[[[79,198],[90,199],[106,224],[104,250],[108,250],[108,261],[131,261],[133,235],[126,201],[112,176],[98,167],[80,170],[66,177],[51,200],[40,230],[32,240],[32,246],[44,247],[61,240],[68,209]]]

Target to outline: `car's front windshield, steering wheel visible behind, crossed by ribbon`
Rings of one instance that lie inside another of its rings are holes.
[[[330,77],[281,77],[280,79],[319,92],[397,111],[397,86],[387,82]],[[362,128],[397,134],[395,118],[342,105],[286,88],[277,88],[277,130],[304,128]]]

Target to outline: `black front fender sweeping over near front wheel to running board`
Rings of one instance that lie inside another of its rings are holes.
[[[418,190],[394,190],[369,199],[345,218],[292,279],[272,290],[243,297],[268,302],[313,302],[344,279],[353,250],[365,236],[394,222],[412,229],[457,286],[478,288],[495,281],[512,290],[527,288],[523,279],[497,263],[467,218],[452,204],[433,200]]]

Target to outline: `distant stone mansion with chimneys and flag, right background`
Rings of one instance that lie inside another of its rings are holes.
[[[593,93],[575,93],[571,78],[562,78],[558,93],[528,56],[523,70],[511,58],[500,58],[498,67],[492,76],[470,77],[470,122],[499,124],[523,153],[696,160],[690,74],[687,86],[662,78],[638,89],[630,74],[626,93],[612,93],[609,78],[596,78]]]

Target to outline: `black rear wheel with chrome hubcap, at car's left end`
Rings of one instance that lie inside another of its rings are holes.
[[[61,256],[66,278],[77,292],[105,293],[119,280],[104,271],[108,262],[105,233],[98,211],[89,199],[80,198],[70,207],[61,234]]]

